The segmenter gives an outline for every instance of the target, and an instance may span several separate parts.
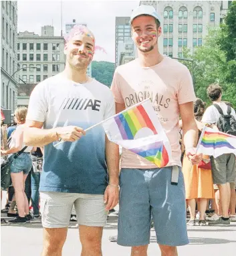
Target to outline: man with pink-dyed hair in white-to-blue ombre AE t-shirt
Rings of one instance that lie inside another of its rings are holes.
[[[62,255],[73,205],[82,255],[101,256],[108,210],[118,202],[118,149],[101,126],[84,130],[114,115],[114,99],[86,74],[95,48],[92,32],[75,26],[65,40],[66,68],[35,86],[24,133],[27,145],[44,146],[42,256]]]

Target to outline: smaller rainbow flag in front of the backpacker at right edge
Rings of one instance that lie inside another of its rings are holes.
[[[224,153],[234,153],[236,155],[236,137],[204,127],[197,145],[197,151],[214,157]]]

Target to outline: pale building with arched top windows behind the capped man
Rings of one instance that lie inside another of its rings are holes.
[[[160,14],[162,36],[158,40],[161,54],[183,58],[186,46],[193,52],[204,44],[208,27],[219,27],[231,1],[140,1],[152,5]]]

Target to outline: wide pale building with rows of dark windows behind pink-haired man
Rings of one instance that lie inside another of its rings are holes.
[[[19,86],[37,84],[65,68],[64,37],[54,36],[54,27],[41,27],[41,36],[34,32],[19,32],[17,42]],[[18,106],[21,98],[29,95],[20,90],[17,95]],[[25,99],[25,98],[24,98]],[[23,104],[25,105],[25,104]]]

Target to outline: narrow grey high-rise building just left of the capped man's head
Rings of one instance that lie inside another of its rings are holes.
[[[124,60],[124,54],[127,52],[127,56],[131,56],[130,54],[130,44],[133,44],[131,39],[131,30],[130,30],[130,17],[116,17],[116,66],[119,66],[122,64],[122,62],[119,62],[121,60],[120,58],[120,52],[122,52],[122,59]],[[127,44],[126,44],[127,42]],[[125,48],[127,47],[127,48]],[[133,44],[134,49],[134,44]]]

